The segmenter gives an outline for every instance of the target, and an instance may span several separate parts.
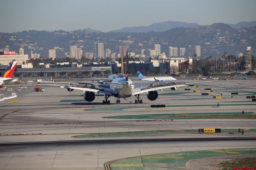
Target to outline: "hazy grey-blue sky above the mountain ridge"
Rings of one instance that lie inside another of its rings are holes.
[[[256,0],[0,0],[0,32],[103,32],[155,22],[209,25],[256,20]]]

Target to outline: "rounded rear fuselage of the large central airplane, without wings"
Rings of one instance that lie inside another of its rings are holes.
[[[124,78],[116,78],[112,81],[112,83],[122,83],[123,85],[110,84],[110,89],[113,90],[114,97],[125,98],[131,97],[132,91],[134,90],[134,85],[132,85],[132,81],[128,79],[126,81]]]

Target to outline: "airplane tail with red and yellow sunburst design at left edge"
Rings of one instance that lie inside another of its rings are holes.
[[[17,66],[17,61],[13,61],[0,75],[0,85],[6,84],[6,83],[14,83],[18,81],[18,79],[12,78],[14,70]]]

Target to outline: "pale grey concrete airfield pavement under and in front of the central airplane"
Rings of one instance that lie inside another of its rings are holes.
[[[171,117],[193,113],[242,114],[242,111],[253,115],[256,103],[246,99],[246,95],[256,94],[255,83],[254,80],[218,81],[198,85],[196,89],[200,91],[212,88],[210,96],[185,92],[182,88],[160,91],[156,101],[141,95],[143,104],[136,105],[135,97],[121,99],[121,103],[110,97],[111,104],[102,105],[100,95],[94,103],[88,103],[81,91],[45,87],[45,92],[33,92],[34,87],[29,87],[18,92],[15,99],[18,103],[11,104],[10,100],[0,103],[0,167],[103,169],[108,161],[130,156],[256,148],[256,119]],[[232,92],[238,95],[232,96]],[[221,93],[222,99],[213,99]],[[163,103],[167,107],[150,108],[152,104]],[[218,103],[220,107],[216,107]],[[133,118],[159,114],[170,117]],[[198,128],[221,128],[222,133],[198,134]],[[238,128],[244,129],[244,134],[238,133]],[[145,129],[148,131],[144,132]],[[107,133],[111,135],[106,137]],[[85,134],[96,135],[74,137]]]

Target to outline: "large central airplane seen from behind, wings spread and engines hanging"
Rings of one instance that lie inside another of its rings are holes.
[[[25,81],[26,83],[26,81]],[[60,88],[66,88],[68,91],[82,90],[84,93],[84,100],[88,102],[94,101],[96,95],[95,93],[102,93],[105,95],[105,99],[102,101],[103,104],[110,104],[109,97],[116,97],[116,103],[120,103],[120,98],[128,98],[135,96],[137,99],[135,103],[142,103],[140,99],[141,93],[147,93],[147,98],[150,101],[154,101],[158,98],[158,90],[163,91],[163,89],[175,90],[177,87],[185,86],[186,83],[182,81],[139,81],[132,82],[128,79],[128,52],[126,52],[126,73],[125,76],[122,74],[118,75],[111,82],[101,81],[100,83],[87,83],[87,82],[58,82],[65,83],[62,85],[52,85],[52,84],[33,84],[31,85],[44,85],[44,86],[54,86]],[[205,83],[205,82],[198,82]]]

